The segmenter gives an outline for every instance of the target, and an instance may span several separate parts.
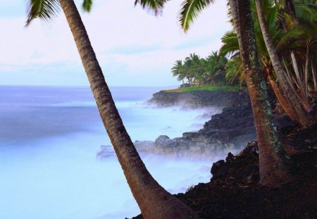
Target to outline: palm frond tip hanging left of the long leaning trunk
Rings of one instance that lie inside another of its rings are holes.
[[[51,20],[58,13],[60,4],[58,0],[30,0],[27,3],[27,21],[25,26],[30,25],[32,20],[40,18],[44,21]]]

